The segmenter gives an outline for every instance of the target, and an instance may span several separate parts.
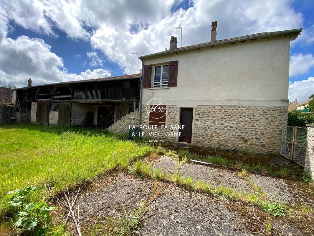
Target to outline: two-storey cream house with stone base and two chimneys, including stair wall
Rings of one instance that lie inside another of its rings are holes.
[[[279,154],[288,117],[290,41],[302,29],[224,40],[216,40],[216,30],[213,22],[210,42],[178,48],[171,37],[169,50],[139,57],[140,135]],[[111,130],[126,130],[133,120]]]

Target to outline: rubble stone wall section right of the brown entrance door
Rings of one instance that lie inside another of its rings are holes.
[[[280,153],[286,106],[198,106],[192,144],[256,153]]]

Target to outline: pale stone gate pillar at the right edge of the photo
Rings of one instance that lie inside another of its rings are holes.
[[[304,172],[314,180],[314,125],[307,125],[307,148]]]

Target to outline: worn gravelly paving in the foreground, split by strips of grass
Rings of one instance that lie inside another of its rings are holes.
[[[168,173],[177,170],[178,163],[170,157],[162,156],[151,162],[153,168],[163,168]],[[230,186],[237,190],[253,191],[249,180],[261,185],[270,199],[276,196],[292,208],[299,204],[314,207],[314,194],[308,192],[309,184],[301,180],[292,181],[251,173],[247,180],[238,177],[236,171],[212,166],[183,164],[180,175],[194,180],[211,182],[212,188],[218,185]],[[157,190],[156,190],[157,189]],[[155,198],[151,198],[152,194]],[[208,194],[191,192],[173,183],[154,182],[149,178],[133,174],[114,173],[101,177],[78,196],[76,214],[82,231],[91,233],[95,223],[123,212],[135,212],[144,202],[151,199],[147,211],[133,235],[270,235],[266,225],[271,222],[271,235],[313,235],[314,217],[308,214],[288,214],[274,217],[252,205],[230,202]],[[59,202],[58,214],[62,221],[68,209]],[[78,210],[79,209],[79,210]],[[96,235],[102,235],[108,227],[100,227]],[[70,220],[68,231],[75,232]]]

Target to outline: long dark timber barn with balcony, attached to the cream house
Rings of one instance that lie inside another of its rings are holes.
[[[138,109],[140,74],[67,81],[14,90],[22,122],[106,128]]]

